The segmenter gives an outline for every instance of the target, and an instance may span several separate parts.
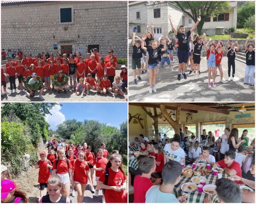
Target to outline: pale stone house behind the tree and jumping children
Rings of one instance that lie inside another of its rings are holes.
[[[229,4],[231,9],[225,11],[225,13],[220,13],[216,18],[207,18],[203,30],[216,27],[224,27],[225,29],[231,27],[236,28],[237,1],[230,1]],[[145,19],[138,19],[137,13]],[[175,28],[183,25],[188,30],[195,24],[186,13],[182,12],[171,1],[161,1],[158,3],[136,1],[129,3],[129,38],[132,37],[132,28],[136,26],[141,28],[141,33],[138,32],[138,35],[141,36],[144,34],[147,23],[154,23],[155,39],[158,39],[162,34],[168,34],[172,30],[168,19],[169,14],[172,16],[172,22]]]

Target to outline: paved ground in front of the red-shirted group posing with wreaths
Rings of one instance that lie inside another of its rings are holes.
[[[116,76],[120,75],[121,70],[116,70]],[[70,84],[70,83],[69,83]],[[49,91],[44,89],[43,92],[43,100],[39,98],[39,91],[36,92],[35,97],[33,99],[30,99],[25,96],[25,92],[20,92],[20,88],[18,87],[18,79],[16,78],[16,86],[17,86],[17,93],[10,93],[10,83],[6,84],[6,90],[9,92],[9,94],[5,94],[4,98],[1,99],[2,102],[20,102],[20,101],[28,101],[28,102],[34,102],[34,101],[47,101],[47,102],[110,102],[110,101],[126,101],[127,95],[120,96],[119,94],[117,96],[114,96],[114,93],[111,92],[109,94],[101,94],[100,96],[97,95],[96,90],[92,90],[89,92],[89,94],[84,94],[84,97],[81,98],[80,96],[77,96],[74,90],[69,90],[65,94],[63,91],[58,94],[58,92]],[[3,91],[3,86],[1,86]],[[86,92],[85,92],[86,93]]]

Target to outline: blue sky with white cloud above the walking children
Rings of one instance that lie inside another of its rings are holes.
[[[52,130],[66,120],[98,120],[100,123],[120,128],[127,120],[127,103],[60,103],[50,110],[46,121]]]

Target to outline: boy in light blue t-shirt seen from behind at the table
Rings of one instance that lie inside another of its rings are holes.
[[[186,203],[186,195],[176,198],[173,189],[181,178],[182,166],[177,161],[168,161],[162,171],[163,184],[151,186],[146,193],[146,203]]]

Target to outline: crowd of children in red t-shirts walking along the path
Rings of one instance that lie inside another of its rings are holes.
[[[127,203],[127,194],[124,195],[126,175],[122,168],[122,156],[117,150],[109,156],[105,149],[106,145],[102,143],[95,156],[91,152],[91,146],[87,146],[87,143],[82,146],[73,145],[71,142],[68,145],[61,140],[58,142],[49,140],[47,147],[48,154],[45,151],[40,152],[40,160],[35,165],[35,168],[39,169],[39,203],[70,203],[70,194],[72,197],[75,196],[74,187],[77,191],[77,203],[82,203],[86,185],[89,185],[90,191],[95,193],[96,197],[99,195],[99,190],[103,189],[103,203]],[[6,170],[7,168],[3,169],[2,165],[2,181],[9,178],[6,178],[6,175],[9,175]],[[93,184],[94,171],[96,172],[96,189]],[[15,199],[18,199],[19,202],[28,202],[25,193],[15,194],[19,189],[13,181],[8,180],[8,184],[6,184],[8,186],[4,188],[4,191],[3,185],[5,186],[1,183],[2,202],[8,203]],[[12,187],[13,185],[15,187]],[[72,186],[71,193],[70,185]],[[10,186],[12,188],[9,188]],[[45,188],[47,189],[46,195]],[[3,198],[3,193],[9,194],[9,196]]]

